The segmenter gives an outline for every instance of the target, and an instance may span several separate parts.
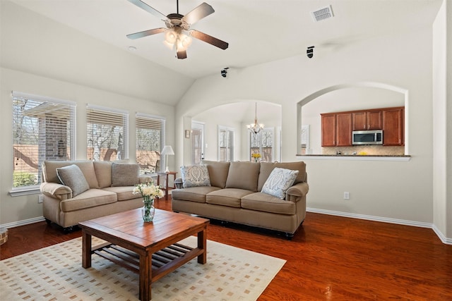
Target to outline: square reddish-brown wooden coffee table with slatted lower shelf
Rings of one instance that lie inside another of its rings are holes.
[[[182,264],[198,257],[206,264],[208,219],[155,209],[154,221],[143,222],[141,209],[78,223],[82,228],[82,266],[91,266],[98,254],[139,274],[140,300],[151,299],[150,285]],[[107,240],[92,247],[91,236]],[[198,247],[177,242],[198,235]]]

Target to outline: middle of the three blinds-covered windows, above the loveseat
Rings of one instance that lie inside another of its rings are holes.
[[[127,158],[127,123],[129,114],[97,106],[86,109],[87,156],[94,161]]]

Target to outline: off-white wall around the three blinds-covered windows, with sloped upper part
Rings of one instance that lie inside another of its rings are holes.
[[[11,91],[76,102],[76,158],[86,159],[87,104],[150,113],[167,118],[166,142],[174,146],[174,106],[191,78],[174,73],[127,51],[116,49],[76,30],[43,18],[9,1],[1,5],[0,69],[0,225],[42,217],[37,195],[11,197]],[[177,89],[165,83],[180,82]],[[129,157],[135,160],[135,133],[129,127]],[[131,146],[131,147],[130,147]],[[177,152],[177,148],[174,148]],[[169,166],[174,158],[169,157]]]

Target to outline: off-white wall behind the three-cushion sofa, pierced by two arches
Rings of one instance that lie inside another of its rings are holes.
[[[177,123],[182,116],[232,99],[280,104],[283,161],[297,161],[297,104],[302,99],[335,85],[374,82],[398,87],[408,91],[410,161],[304,159],[310,185],[307,206],[432,223],[432,28],[394,32],[335,51],[316,45],[316,51],[314,59],[300,54],[238,70],[228,81],[219,76],[196,80],[177,105]],[[184,145],[176,139],[177,145]],[[343,200],[344,191],[350,192],[350,200]]]

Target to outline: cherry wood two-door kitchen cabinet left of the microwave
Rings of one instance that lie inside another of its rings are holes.
[[[321,114],[322,147],[352,145],[352,113]]]

